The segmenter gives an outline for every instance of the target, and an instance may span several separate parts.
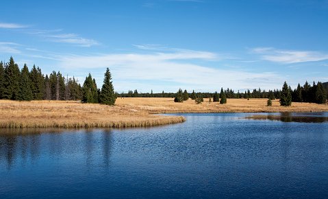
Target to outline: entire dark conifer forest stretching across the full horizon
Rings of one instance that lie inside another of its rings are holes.
[[[137,89],[128,91],[127,93],[114,93],[112,85],[112,76],[109,69],[105,72],[104,84],[100,89],[97,87],[96,81],[89,73],[81,86],[78,80],[66,78],[60,71],[53,71],[49,75],[44,75],[39,67],[35,65],[29,71],[25,64],[20,70],[14,62],[14,58],[10,57],[9,62],[0,62],[0,100],[81,100],[86,103],[115,103],[116,97],[172,97],[175,102],[183,102],[189,97],[195,102],[203,102],[203,98],[213,98],[213,102],[225,104],[227,98],[268,98],[270,100],[281,99],[285,95],[281,89],[273,91],[262,89],[249,89],[244,92],[233,89],[220,89],[220,93],[196,93],[194,90],[184,92],[179,89],[177,93],[139,93]],[[285,86],[285,85],[284,85]],[[288,86],[288,85],[287,85]],[[328,82],[313,82],[309,84],[305,82],[303,86],[298,84],[297,88],[292,90],[290,86],[286,89],[286,96],[290,93],[291,102],[312,102],[317,104],[325,104],[327,102]],[[223,99],[222,102],[219,99]]]

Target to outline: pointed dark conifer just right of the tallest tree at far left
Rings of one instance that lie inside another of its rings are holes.
[[[21,80],[19,82],[19,91],[17,100],[31,101],[33,94],[31,90],[31,80],[29,79],[29,69],[25,64],[21,71]]]

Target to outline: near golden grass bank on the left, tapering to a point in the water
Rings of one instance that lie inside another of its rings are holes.
[[[79,102],[0,100],[0,128],[124,128],[158,126],[184,117],[151,115],[125,106]]]

